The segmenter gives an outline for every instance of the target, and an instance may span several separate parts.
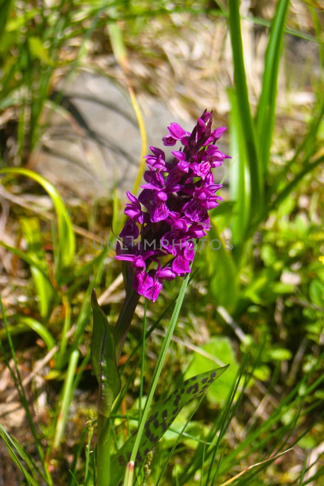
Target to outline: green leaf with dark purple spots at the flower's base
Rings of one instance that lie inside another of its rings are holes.
[[[177,417],[184,405],[190,400],[198,397],[208,389],[211,383],[228,368],[216,368],[206,373],[186,380],[182,386],[177,388],[166,400],[153,405],[150,410],[150,417],[144,425],[145,433],[142,435],[136,454],[135,468],[157,444],[162,435],[169,429],[171,423]],[[130,460],[137,431],[125,442],[111,460],[111,484],[121,486],[125,467]]]

